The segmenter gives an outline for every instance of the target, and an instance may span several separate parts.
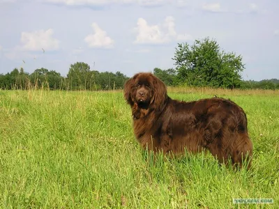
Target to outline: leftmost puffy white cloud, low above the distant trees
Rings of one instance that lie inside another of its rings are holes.
[[[42,48],[48,51],[59,49],[59,40],[53,38],[52,35],[52,29],[33,31],[30,33],[22,32],[22,49],[30,51],[39,51]]]

